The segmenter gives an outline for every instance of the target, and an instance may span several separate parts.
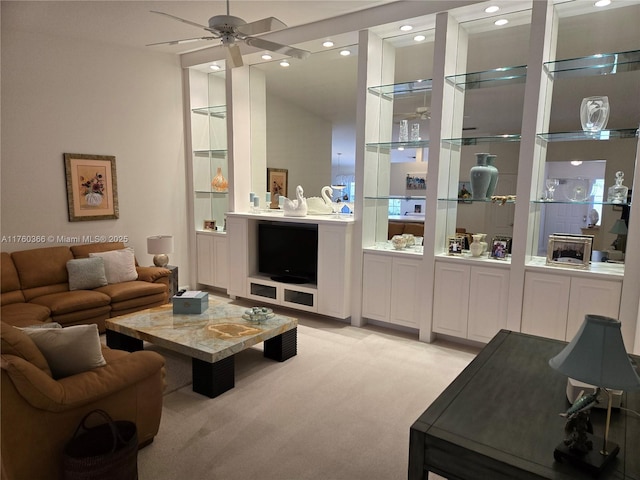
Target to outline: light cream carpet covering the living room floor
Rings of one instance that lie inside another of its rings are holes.
[[[239,353],[236,386],[217,398],[191,390],[189,359],[167,357],[174,391],[139,452],[141,480],[407,477],[409,427],[477,350],[282,313],[299,320],[298,355],[274,362],[262,345]]]

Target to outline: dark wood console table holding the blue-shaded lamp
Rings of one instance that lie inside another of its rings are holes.
[[[558,414],[569,402],[567,377],[548,361],[565,345],[499,332],[411,426],[409,479],[428,472],[449,480],[592,478],[553,458],[564,438]],[[622,401],[640,411],[640,393],[625,392]],[[596,435],[604,432],[605,415],[592,410]],[[609,438],[620,452],[598,478],[640,480],[640,417],[614,409]]]

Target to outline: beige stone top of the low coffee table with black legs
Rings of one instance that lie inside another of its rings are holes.
[[[217,362],[297,327],[292,317],[274,315],[253,322],[242,318],[246,307],[209,298],[201,314],[174,314],[171,304],[106,321],[108,330],[144,340],[175,352]]]

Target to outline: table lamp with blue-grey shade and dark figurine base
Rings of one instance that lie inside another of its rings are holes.
[[[615,458],[620,447],[608,440],[611,421],[611,393],[607,389],[640,390],[640,377],[627,355],[620,331],[620,322],[600,315],[586,315],[584,323],[571,342],[549,365],[560,373],[599,387],[608,397],[607,420],[599,455],[571,452],[564,444],[554,452],[556,459],[566,458],[572,463],[599,473]],[[597,445],[598,437],[593,437]]]

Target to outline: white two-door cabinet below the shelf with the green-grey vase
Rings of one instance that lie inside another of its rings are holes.
[[[487,343],[507,325],[509,269],[436,262],[433,331]]]

